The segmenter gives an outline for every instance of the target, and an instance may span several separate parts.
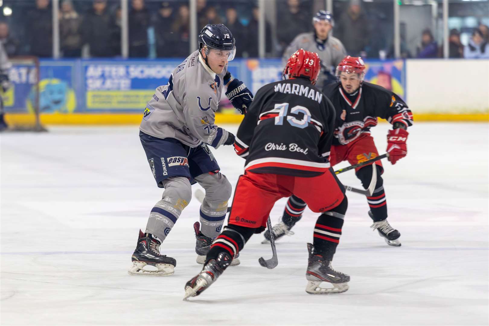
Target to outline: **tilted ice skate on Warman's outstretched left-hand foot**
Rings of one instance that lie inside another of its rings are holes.
[[[221,252],[217,259],[207,261],[200,273],[185,284],[185,296],[183,300],[198,296],[202,291],[211,286],[230,263],[231,256],[227,252]]]

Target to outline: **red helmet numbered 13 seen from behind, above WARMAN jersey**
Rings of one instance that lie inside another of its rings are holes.
[[[282,77],[284,79],[307,77],[311,84],[314,85],[321,69],[319,62],[317,53],[299,49],[287,61]]]

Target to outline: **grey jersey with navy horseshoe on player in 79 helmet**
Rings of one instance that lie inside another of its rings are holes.
[[[156,88],[144,110],[139,130],[157,138],[174,138],[190,147],[201,142],[218,148],[228,132],[215,125],[223,76],[214,73],[199,50],[178,65],[168,84]]]

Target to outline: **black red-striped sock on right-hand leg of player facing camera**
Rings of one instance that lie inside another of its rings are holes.
[[[377,165],[377,183],[372,196],[367,196],[367,203],[370,206],[372,212],[372,219],[374,222],[383,221],[387,218],[387,201],[385,200],[385,192],[383,186],[383,180],[380,174],[382,169]],[[361,168],[356,173],[356,176],[361,180],[363,188],[367,189],[372,180],[372,168],[370,166]]]

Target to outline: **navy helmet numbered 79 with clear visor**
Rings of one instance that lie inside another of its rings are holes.
[[[209,48],[229,51],[227,60],[231,61],[234,59],[236,54],[235,39],[233,34],[223,24],[207,24],[200,31],[199,34],[199,49],[204,46]],[[206,53],[207,54],[207,53]]]

